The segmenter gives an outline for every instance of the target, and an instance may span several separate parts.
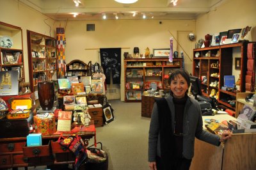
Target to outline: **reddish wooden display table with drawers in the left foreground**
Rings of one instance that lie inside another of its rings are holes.
[[[82,139],[95,137],[95,126],[90,125],[88,130],[82,127],[74,128],[70,133],[63,133],[64,137],[70,134],[79,134]],[[26,137],[0,139],[0,169],[28,166],[50,166],[74,163],[74,153],[63,148],[57,141],[60,133],[44,135],[42,146],[26,146]]]

